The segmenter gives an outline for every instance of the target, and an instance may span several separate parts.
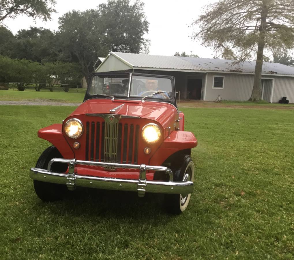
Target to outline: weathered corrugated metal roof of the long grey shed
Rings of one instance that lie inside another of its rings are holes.
[[[255,62],[242,62],[240,64],[234,64],[233,61],[225,59],[161,56],[122,52],[111,52],[111,54],[114,54],[122,60],[128,62],[133,66],[133,68],[186,69],[197,71],[211,70],[240,73],[254,73],[255,70]],[[264,62],[262,73],[294,75],[294,68],[280,63]]]

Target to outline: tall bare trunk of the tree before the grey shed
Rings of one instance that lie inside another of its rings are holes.
[[[265,46],[265,34],[266,34],[266,16],[267,7],[263,6],[261,12],[261,23],[259,27],[259,39],[258,39],[258,49],[256,55],[255,72],[254,72],[254,82],[251,97],[249,101],[259,101],[261,100],[261,73],[263,65],[263,50]]]

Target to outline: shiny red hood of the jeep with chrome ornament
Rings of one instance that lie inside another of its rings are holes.
[[[83,102],[70,116],[84,114],[110,114],[110,110],[124,104],[116,110],[117,115],[138,116],[150,120],[155,120],[161,125],[166,125],[168,120],[177,114],[176,108],[168,103],[153,101],[135,100],[114,100],[110,99],[89,99]]]

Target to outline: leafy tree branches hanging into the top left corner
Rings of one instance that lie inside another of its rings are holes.
[[[15,18],[19,14],[47,21],[51,19],[51,13],[56,12],[55,4],[55,0],[1,0],[0,23],[5,18]]]

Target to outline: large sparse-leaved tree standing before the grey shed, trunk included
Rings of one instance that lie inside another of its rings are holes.
[[[237,62],[256,58],[249,100],[260,100],[264,51],[294,46],[294,1],[220,0],[207,5],[193,25],[194,39],[204,45],[231,53]]]

